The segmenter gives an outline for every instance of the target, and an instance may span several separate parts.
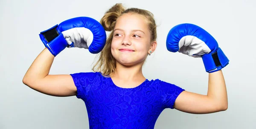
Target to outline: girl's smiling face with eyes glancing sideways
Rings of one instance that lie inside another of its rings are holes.
[[[111,53],[124,65],[143,63],[150,48],[150,32],[146,19],[138,14],[123,14],[113,31]]]

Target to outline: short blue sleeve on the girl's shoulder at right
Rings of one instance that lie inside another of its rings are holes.
[[[161,81],[160,86],[162,87],[162,99],[164,108],[174,109],[176,98],[180,95],[180,93],[184,91],[184,89],[165,81]]]

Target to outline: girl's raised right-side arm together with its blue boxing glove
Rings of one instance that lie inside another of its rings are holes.
[[[185,23],[173,27],[167,36],[167,49],[202,58],[209,73],[208,93],[201,95],[183,91],[176,98],[174,108],[183,112],[206,114],[224,111],[228,107],[227,90],[222,69],[229,59],[219,48],[218,42],[203,28]]]

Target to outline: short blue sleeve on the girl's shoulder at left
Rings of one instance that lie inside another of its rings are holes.
[[[70,74],[77,89],[77,98],[81,98],[85,101],[86,96],[90,90],[89,87],[92,85],[93,80],[95,79],[95,75],[96,73],[93,72]]]

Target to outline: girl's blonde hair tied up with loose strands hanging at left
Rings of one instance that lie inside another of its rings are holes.
[[[111,31],[106,41],[106,45],[103,50],[99,53],[99,59],[96,64],[93,66],[94,72],[101,72],[105,76],[109,76],[112,72],[116,70],[116,59],[112,56],[111,53],[111,42],[113,38],[113,29],[116,25],[116,20],[122,14],[140,14],[145,17],[148,24],[148,30],[151,32],[150,39],[155,41],[157,39],[157,26],[154,20],[154,15],[147,10],[140,8],[128,8],[125,9],[122,6],[122,3],[116,3],[108,11],[105,12],[105,15],[100,20],[100,23],[105,28],[105,31]]]

